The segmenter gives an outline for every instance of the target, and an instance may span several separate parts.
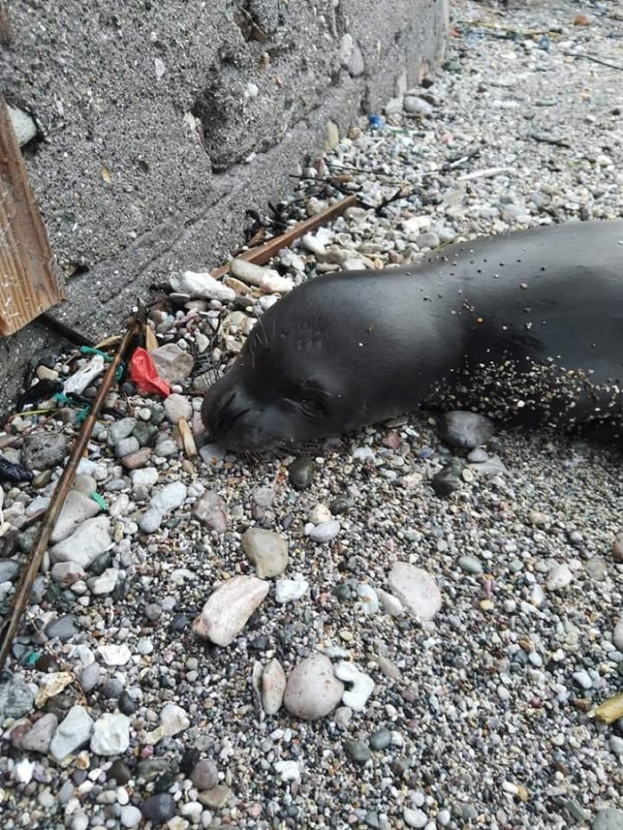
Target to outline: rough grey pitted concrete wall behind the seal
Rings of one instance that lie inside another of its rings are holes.
[[[0,84],[43,136],[24,155],[67,279],[57,316],[109,334],[151,283],[222,262],[329,120],[344,133],[441,59],[447,4],[13,0]],[[0,341],[0,410],[46,343],[39,324]]]

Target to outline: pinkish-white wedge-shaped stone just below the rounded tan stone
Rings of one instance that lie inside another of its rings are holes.
[[[229,646],[266,597],[269,584],[256,576],[233,576],[210,595],[192,624],[198,637]]]

